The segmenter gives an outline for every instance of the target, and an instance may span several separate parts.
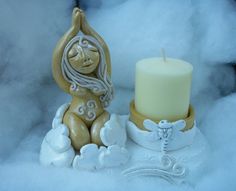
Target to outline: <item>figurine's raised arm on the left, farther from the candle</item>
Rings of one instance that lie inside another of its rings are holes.
[[[53,77],[55,81],[57,82],[58,86],[67,93],[70,92],[71,84],[67,82],[63,77],[62,70],[61,70],[61,61],[62,61],[62,56],[63,56],[63,52],[66,45],[74,36],[78,34],[80,30],[80,23],[81,23],[80,17],[81,17],[80,9],[75,8],[73,10],[72,26],[64,34],[64,36],[59,40],[53,52],[53,59],[52,59]]]

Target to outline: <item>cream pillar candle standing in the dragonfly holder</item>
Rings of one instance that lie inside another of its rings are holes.
[[[137,62],[136,110],[155,120],[178,120],[188,115],[193,67],[172,58]]]

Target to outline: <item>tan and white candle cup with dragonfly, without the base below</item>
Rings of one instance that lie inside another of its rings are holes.
[[[139,113],[134,101],[130,103],[130,116],[127,122],[127,132],[129,137],[137,144],[151,150],[161,151],[163,144],[166,144],[161,137],[168,134],[168,147],[166,151],[177,150],[192,144],[195,136],[196,123],[194,119],[194,109],[190,105],[188,116],[174,122],[166,120],[154,120]]]

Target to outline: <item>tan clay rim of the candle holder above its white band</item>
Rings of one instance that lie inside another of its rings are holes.
[[[194,109],[193,107],[190,105],[189,106],[189,113],[188,113],[188,117],[183,119],[186,122],[186,127],[184,129],[182,129],[182,131],[187,131],[189,129],[192,129],[192,127],[194,126]],[[142,115],[141,113],[139,113],[136,109],[135,109],[135,104],[134,104],[134,100],[131,101],[130,103],[130,117],[129,120],[132,121],[138,128],[142,129],[142,130],[146,130],[145,127],[143,126],[143,121],[145,119],[150,119],[156,123],[159,123],[159,120],[155,120],[152,119],[150,117],[146,117],[144,115]]]

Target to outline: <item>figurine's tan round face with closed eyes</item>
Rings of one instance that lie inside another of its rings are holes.
[[[97,68],[99,64],[98,49],[84,42],[86,46],[80,46],[79,42],[73,44],[68,52],[68,61],[71,66],[81,74],[90,74]]]

